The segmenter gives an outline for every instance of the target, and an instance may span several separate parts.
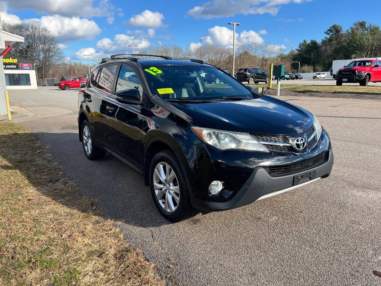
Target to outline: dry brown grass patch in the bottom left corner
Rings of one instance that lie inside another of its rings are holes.
[[[21,125],[0,123],[0,285],[165,285]]]

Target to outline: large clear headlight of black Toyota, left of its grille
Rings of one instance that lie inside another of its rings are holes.
[[[194,126],[191,128],[202,141],[220,150],[240,149],[269,153],[261,143],[248,133],[221,131]]]

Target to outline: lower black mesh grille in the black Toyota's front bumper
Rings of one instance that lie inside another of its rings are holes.
[[[325,161],[327,156],[328,156],[328,151],[312,159],[308,159],[306,161],[299,162],[297,164],[264,167],[264,169],[270,176],[289,175],[293,173],[303,172],[304,170],[311,169],[312,167],[318,166],[323,161]]]

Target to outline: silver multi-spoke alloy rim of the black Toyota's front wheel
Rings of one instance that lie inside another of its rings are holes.
[[[180,202],[180,187],[171,166],[160,162],[154,170],[154,190],[157,201],[166,212],[174,212]]]

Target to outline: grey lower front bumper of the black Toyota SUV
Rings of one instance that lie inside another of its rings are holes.
[[[326,158],[322,164],[317,167],[303,170],[300,173],[282,177],[271,177],[269,174],[267,174],[266,170],[263,167],[256,167],[246,183],[230,201],[211,202],[191,196],[191,203],[196,209],[205,211],[234,209],[236,207],[245,206],[254,201],[258,201],[259,199],[274,196],[276,194],[298,188],[308,183],[315,182],[320,178],[328,177],[331,173],[332,166],[333,152],[332,149],[328,149],[328,158]],[[313,178],[306,177],[303,179],[303,181],[301,181],[301,183],[293,186],[294,177],[296,175],[305,174],[310,171],[315,171]]]

